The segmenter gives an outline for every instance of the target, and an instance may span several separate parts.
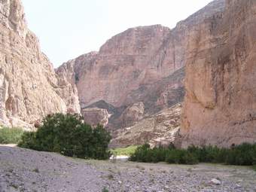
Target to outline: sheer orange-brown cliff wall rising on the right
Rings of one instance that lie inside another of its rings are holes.
[[[183,147],[256,141],[256,1],[225,3],[187,39]]]

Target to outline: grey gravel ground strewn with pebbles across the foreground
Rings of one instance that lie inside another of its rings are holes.
[[[220,183],[212,183],[212,179]],[[249,167],[79,160],[0,146],[0,191],[253,191]]]

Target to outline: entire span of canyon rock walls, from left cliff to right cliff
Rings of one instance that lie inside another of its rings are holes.
[[[215,0],[177,24],[139,26],[53,69],[20,0],[0,2],[0,124],[78,113],[111,147],[256,141],[256,2]]]

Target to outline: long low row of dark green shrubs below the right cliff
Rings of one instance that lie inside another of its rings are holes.
[[[147,163],[166,161],[166,163],[177,164],[224,163],[255,167],[256,144],[243,143],[232,148],[190,146],[187,149],[177,149],[172,145],[169,148],[150,148],[145,144],[136,149],[130,160]]]

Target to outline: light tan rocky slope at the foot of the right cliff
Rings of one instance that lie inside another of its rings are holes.
[[[177,104],[140,120],[134,126],[117,130],[110,147],[143,145],[146,142],[151,146],[169,145],[171,142],[175,142],[175,137],[179,132],[180,115],[181,104]]]

